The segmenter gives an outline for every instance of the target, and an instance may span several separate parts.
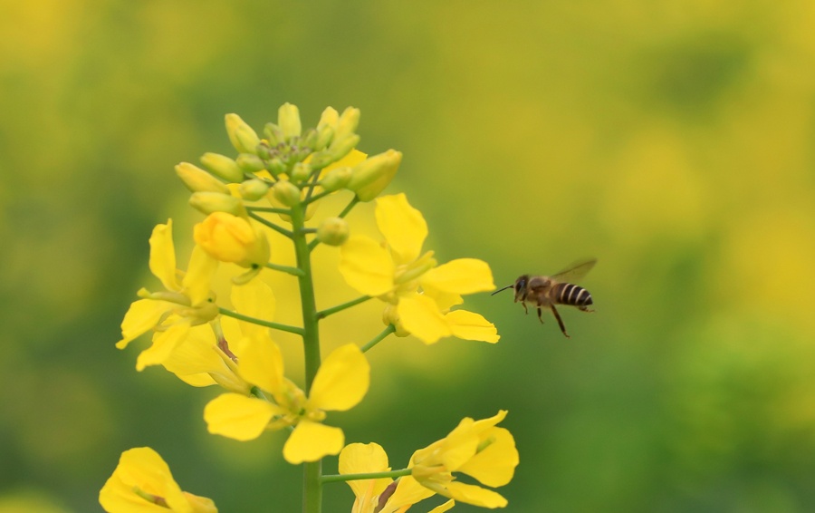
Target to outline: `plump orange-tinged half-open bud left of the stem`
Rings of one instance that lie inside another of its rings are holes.
[[[193,228],[196,244],[221,262],[242,267],[265,266],[269,242],[247,219],[226,212],[213,212]]]

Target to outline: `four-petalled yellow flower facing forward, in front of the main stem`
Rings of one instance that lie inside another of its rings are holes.
[[[322,362],[307,397],[283,375],[283,357],[265,332],[254,332],[242,344],[238,371],[245,381],[271,395],[273,401],[225,393],[209,402],[204,419],[209,432],[235,440],[254,440],[265,430],[293,426],[283,446],[292,464],[320,460],[342,449],[345,435],[325,426],[326,411],[346,411],[368,392],[370,366],[360,348],[348,344]]]

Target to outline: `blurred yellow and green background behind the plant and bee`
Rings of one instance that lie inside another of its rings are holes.
[[[505,292],[466,303],[499,344],[379,344],[365,402],[330,417],[349,441],[399,467],[507,409],[513,511],[815,509],[810,1],[45,0],[0,27],[0,511],[98,511],[143,445],[222,511],[299,510],[280,436],[208,435],[216,390],[113,347],[156,285],[151,228],[174,218],[186,255],[199,219],[173,165],[229,152],[226,112],[260,129],[283,102],[307,126],[359,107],[442,261],[503,286],[599,258],[570,340]],[[324,257],[321,307],[354,296]],[[330,320],[327,344],[381,329],[373,302]],[[351,502],[331,485],[324,510]]]

